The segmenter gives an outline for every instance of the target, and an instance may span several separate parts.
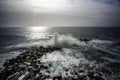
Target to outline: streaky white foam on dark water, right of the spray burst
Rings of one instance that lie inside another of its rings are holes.
[[[100,51],[120,57],[118,54],[120,52],[120,47],[113,46],[114,43],[115,41],[93,39],[88,43],[88,45]]]

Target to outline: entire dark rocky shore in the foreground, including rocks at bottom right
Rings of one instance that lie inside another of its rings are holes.
[[[16,58],[10,59],[0,69],[0,80],[104,80],[102,73],[88,70],[65,70],[65,75],[50,76],[50,64],[45,65],[39,59],[57,47],[31,48]],[[44,73],[44,70],[47,73]]]

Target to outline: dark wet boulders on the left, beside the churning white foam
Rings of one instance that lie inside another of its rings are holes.
[[[41,58],[48,52],[60,49],[57,47],[48,46],[45,48],[40,46],[25,51],[16,58],[12,58],[3,64],[3,67],[0,69],[1,80],[27,80],[25,76],[34,76],[35,72],[40,69],[40,65],[44,68],[41,62],[37,61],[38,58]],[[28,71],[29,73],[26,73]]]

